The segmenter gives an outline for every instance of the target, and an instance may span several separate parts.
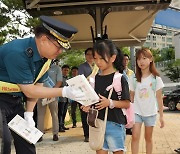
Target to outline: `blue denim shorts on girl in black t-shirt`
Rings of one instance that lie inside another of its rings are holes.
[[[125,126],[115,122],[107,121],[103,150],[125,151]]]

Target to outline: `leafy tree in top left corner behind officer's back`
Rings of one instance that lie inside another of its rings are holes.
[[[31,17],[24,9],[22,0],[1,0],[0,8],[0,45],[17,37],[31,34],[33,27],[39,23],[37,18]],[[25,27],[25,28],[22,28]]]

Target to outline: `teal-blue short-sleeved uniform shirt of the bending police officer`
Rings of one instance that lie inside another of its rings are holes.
[[[45,61],[39,55],[35,38],[16,39],[4,44],[0,47],[0,81],[32,84]],[[45,73],[38,82],[44,82],[47,76]]]

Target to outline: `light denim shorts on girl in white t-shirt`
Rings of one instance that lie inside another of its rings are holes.
[[[135,114],[135,122],[137,122],[137,123],[144,122],[145,126],[155,126],[156,125],[156,116],[157,115],[144,117],[139,114]]]

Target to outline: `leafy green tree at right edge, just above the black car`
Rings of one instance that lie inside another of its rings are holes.
[[[173,82],[180,82],[180,59],[174,63],[169,63],[163,70],[165,75]]]

